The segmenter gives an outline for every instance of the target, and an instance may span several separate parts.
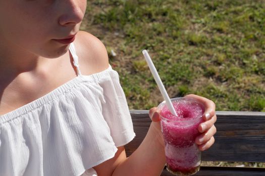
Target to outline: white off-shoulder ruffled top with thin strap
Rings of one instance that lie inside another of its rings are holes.
[[[118,73],[78,76],[43,97],[0,116],[0,175],[96,175],[134,136]]]

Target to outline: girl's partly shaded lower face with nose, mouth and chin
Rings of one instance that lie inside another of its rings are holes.
[[[55,58],[69,44],[58,39],[73,37],[85,14],[87,0],[0,1],[0,46]]]

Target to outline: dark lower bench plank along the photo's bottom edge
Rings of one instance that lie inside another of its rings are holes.
[[[249,167],[205,167],[202,166],[194,176],[264,176],[265,168]],[[161,176],[172,176],[166,169]]]

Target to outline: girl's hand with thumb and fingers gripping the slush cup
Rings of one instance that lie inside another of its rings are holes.
[[[215,103],[204,97],[196,96],[193,94],[187,95],[185,97],[196,99],[205,106],[205,112],[202,116],[204,122],[201,123],[198,127],[198,131],[202,134],[197,136],[195,142],[198,144],[198,147],[201,151],[207,150],[215,142],[214,135],[216,133],[216,127],[214,124],[217,120],[215,114]],[[161,118],[156,110],[156,107],[149,110],[149,117],[152,120],[151,127],[154,128],[156,132],[162,133],[160,126]]]

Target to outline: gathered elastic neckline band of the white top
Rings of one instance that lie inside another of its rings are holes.
[[[103,71],[93,73],[90,75],[79,75],[74,77],[73,79],[67,81],[66,83],[58,86],[56,89],[52,90],[51,92],[45,94],[44,96],[26,104],[23,105],[15,110],[12,110],[6,114],[0,115],[0,125],[8,122],[9,120],[18,118],[20,116],[23,116],[24,114],[27,114],[39,107],[41,107],[44,104],[50,103],[52,101],[55,101],[59,97],[71,92],[78,84],[82,83],[83,81],[97,81],[100,78],[105,77],[105,74],[110,73],[111,71],[114,71],[109,64],[109,67]]]

